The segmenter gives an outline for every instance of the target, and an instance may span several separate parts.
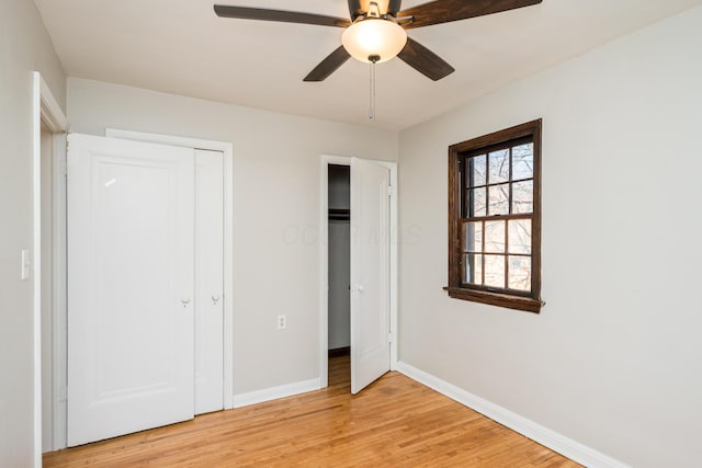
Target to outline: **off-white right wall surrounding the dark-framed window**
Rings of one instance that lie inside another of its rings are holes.
[[[400,361],[637,467],[702,445],[702,8],[400,134]],[[543,117],[540,316],[450,299],[448,146]]]

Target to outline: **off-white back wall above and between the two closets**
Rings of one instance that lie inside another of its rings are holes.
[[[319,156],[395,160],[397,135],[72,78],[68,118],[234,144],[235,393],[319,377]]]

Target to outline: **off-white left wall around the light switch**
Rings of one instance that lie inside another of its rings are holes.
[[[20,251],[32,247],[32,71],[59,104],[66,78],[29,0],[0,2],[0,466],[33,459],[32,284],[20,279]]]

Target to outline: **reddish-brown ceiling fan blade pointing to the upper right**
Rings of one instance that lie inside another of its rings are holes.
[[[484,16],[541,3],[542,0],[434,0],[399,12],[398,16],[414,16],[406,30]]]

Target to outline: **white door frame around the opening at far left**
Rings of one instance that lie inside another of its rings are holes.
[[[58,101],[42,78],[34,71],[32,99],[32,319],[33,319],[33,436],[34,467],[42,466],[42,388],[52,386],[52,445],[56,449],[66,435],[66,376],[57,369],[66,368],[66,133],[68,119]],[[52,190],[52,367],[50,383],[42,381],[42,122],[53,134]],[[63,409],[61,409],[63,406]],[[65,445],[64,445],[65,446]]]

